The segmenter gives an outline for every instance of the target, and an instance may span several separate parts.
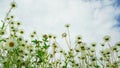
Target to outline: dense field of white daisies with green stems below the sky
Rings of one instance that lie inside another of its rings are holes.
[[[68,50],[64,50],[52,34],[43,34],[38,38],[37,32],[25,39],[21,22],[10,15],[16,3],[1,20],[0,27],[0,68],[119,68],[120,42],[110,44],[110,36],[103,37],[103,43],[87,44],[82,36],[77,36],[71,43],[70,25],[66,24],[66,32],[62,38]],[[63,47],[65,45],[62,45]],[[106,48],[107,46],[107,48]],[[99,47],[100,49],[98,49]]]

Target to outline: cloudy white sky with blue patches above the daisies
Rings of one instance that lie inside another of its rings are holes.
[[[0,0],[3,19],[12,0]],[[26,34],[33,30],[41,36],[54,34],[61,39],[70,24],[71,40],[81,35],[85,42],[99,42],[110,35],[111,42],[120,41],[120,0],[15,0],[13,11],[22,22]]]

